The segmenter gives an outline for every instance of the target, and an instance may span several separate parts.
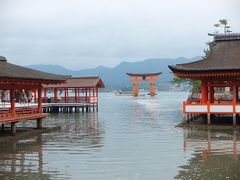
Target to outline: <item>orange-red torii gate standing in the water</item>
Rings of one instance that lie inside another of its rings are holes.
[[[134,74],[134,73],[127,73],[130,76],[130,81],[133,82],[133,96],[138,96],[138,83],[149,81],[150,82],[150,95],[155,96],[155,81],[158,80],[158,76],[162,73],[149,73],[149,74]]]

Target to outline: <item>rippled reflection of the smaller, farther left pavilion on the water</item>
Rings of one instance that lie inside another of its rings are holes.
[[[70,143],[71,146],[77,145],[79,151],[85,146],[88,148],[102,146],[103,130],[98,122],[98,113],[96,112],[52,115],[48,118],[47,125],[62,127],[62,131],[52,133],[52,136],[48,138],[54,143],[53,150],[58,151],[59,148],[67,146],[67,143]],[[57,144],[58,148],[56,148]],[[48,148],[51,149],[51,146]]]

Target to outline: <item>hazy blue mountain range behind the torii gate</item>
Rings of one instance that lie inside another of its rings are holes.
[[[173,78],[173,75],[170,73],[168,65],[175,65],[179,63],[187,63],[194,60],[200,59],[200,56],[186,59],[184,57],[179,57],[176,59],[146,59],[144,61],[138,62],[121,62],[113,68],[108,68],[104,66],[98,66],[92,69],[82,69],[73,71],[66,69],[58,65],[30,65],[28,67],[51,72],[57,74],[66,74],[72,76],[80,75],[100,75],[104,83],[109,86],[126,86],[129,85],[129,78],[126,75],[127,72],[131,73],[151,73],[151,72],[162,72],[163,74],[160,77],[158,83],[168,84]]]

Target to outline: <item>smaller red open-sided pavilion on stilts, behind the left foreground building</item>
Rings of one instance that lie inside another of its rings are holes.
[[[43,85],[43,111],[53,113],[98,111],[98,89],[104,87],[99,76],[72,77],[63,84]]]

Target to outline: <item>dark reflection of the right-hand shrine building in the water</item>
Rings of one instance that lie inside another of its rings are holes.
[[[239,130],[184,129],[184,150],[193,150],[176,179],[239,179]]]

